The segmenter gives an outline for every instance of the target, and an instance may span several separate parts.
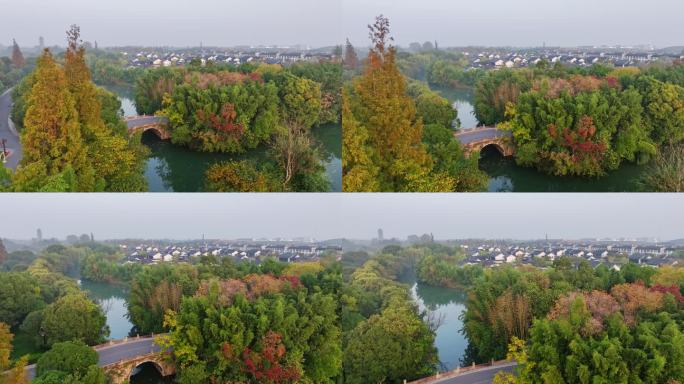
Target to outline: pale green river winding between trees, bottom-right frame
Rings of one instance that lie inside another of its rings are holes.
[[[460,319],[465,311],[465,291],[413,283],[411,294],[421,311],[427,309],[441,319],[435,333],[440,370],[459,367],[468,347],[468,340],[461,333],[463,321]]]

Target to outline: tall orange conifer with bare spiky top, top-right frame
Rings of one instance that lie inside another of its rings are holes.
[[[421,142],[423,124],[406,93],[406,79],[396,64],[389,20],[382,15],[368,26],[373,47],[364,74],[354,80],[351,109],[368,130],[368,143],[378,167],[380,190],[415,191],[425,183],[432,159]]]

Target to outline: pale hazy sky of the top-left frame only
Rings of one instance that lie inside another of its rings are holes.
[[[8,45],[65,44],[69,25],[101,46],[339,44],[338,0],[2,0]]]

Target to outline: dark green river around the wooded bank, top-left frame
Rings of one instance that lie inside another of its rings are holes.
[[[130,89],[109,87],[121,100],[124,116],[135,116],[135,102]],[[322,155],[326,175],[331,181],[333,192],[342,191],[342,126],[324,124],[312,129],[315,143]],[[235,159],[263,161],[266,148],[259,147],[247,154],[206,153],[192,151],[186,147],[160,140],[152,133],[145,133],[142,142],[150,148],[145,178],[150,192],[201,192],[204,188],[204,173],[214,163]]]

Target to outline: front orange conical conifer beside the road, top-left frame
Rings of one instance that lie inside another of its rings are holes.
[[[15,188],[38,191],[52,185],[93,190],[94,172],[83,148],[78,112],[64,71],[48,50],[38,60],[34,78],[26,102],[21,138],[24,157],[14,178]]]

